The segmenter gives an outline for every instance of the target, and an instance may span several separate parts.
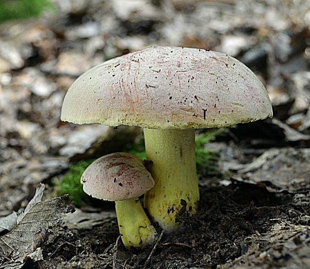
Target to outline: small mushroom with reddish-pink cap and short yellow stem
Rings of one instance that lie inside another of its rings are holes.
[[[138,198],[153,187],[154,180],[139,158],[125,152],[100,157],[85,169],[80,182],[92,197],[115,201],[118,228],[126,248],[154,241],[156,230]]]

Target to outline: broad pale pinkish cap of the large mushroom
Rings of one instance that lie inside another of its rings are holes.
[[[146,128],[230,126],[272,116],[267,91],[243,63],[198,48],[152,46],[79,76],[61,120]]]

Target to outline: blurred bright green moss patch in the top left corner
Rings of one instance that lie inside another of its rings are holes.
[[[49,0],[0,0],[0,22],[39,16],[44,8],[53,8]]]

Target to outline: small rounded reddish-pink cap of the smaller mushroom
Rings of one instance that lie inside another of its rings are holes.
[[[142,161],[126,152],[96,159],[82,173],[80,182],[87,194],[109,201],[138,197],[154,186]]]

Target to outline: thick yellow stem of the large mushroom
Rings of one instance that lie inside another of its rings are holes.
[[[144,196],[144,207],[165,231],[172,231],[182,208],[193,214],[199,200],[194,129],[146,129],[146,159],[153,162],[155,185]]]

